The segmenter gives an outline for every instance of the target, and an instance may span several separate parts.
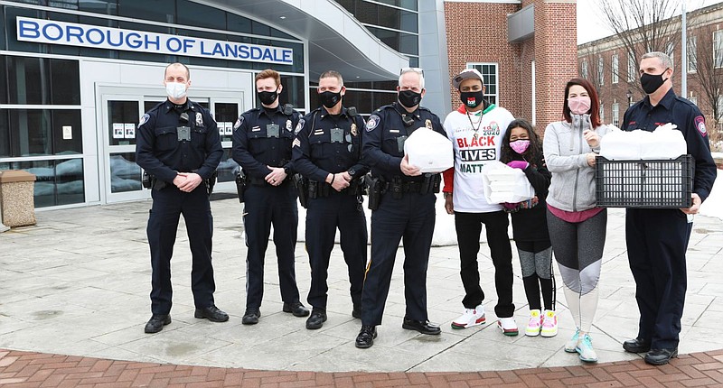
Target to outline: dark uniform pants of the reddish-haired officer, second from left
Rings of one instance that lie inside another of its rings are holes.
[[[264,257],[268,247],[271,225],[274,226],[274,245],[277,248],[278,282],[281,299],[288,303],[299,301],[294,269],[296,226],[296,189],[286,180],[281,186],[250,185],[244,193],[243,225],[246,231],[246,308],[261,306],[264,297]]]

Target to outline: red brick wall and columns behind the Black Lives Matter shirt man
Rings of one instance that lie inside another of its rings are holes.
[[[507,42],[507,14],[535,6],[535,34],[525,42]],[[577,6],[549,0],[523,0],[521,5],[445,3],[449,79],[468,62],[498,64],[499,105],[516,117],[531,120],[532,72],[535,60],[537,130],[541,134],[561,117],[567,81],[577,75]],[[452,103],[460,106],[451,89]]]

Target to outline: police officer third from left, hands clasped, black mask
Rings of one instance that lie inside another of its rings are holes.
[[[352,283],[354,318],[361,318],[367,263],[361,180],[368,169],[360,162],[364,121],[356,115],[356,109],[342,105],[346,88],[338,72],[324,71],[316,92],[323,106],[299,121],[292,152],[294,168],[308,180],[306,250],[311,265],[311,289],[307,301],[314,308],[306,319],[308,329],[321,328],[326,321],[326,278],[337,227]]]

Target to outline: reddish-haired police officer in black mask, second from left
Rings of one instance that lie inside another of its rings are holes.
[[[246,313],[244,325],[258,323],[264,295],[264,256],[271,225],[277,247],[278,278],[284,312],[296,317],[309,315],[299,301],[294,270],[296,248],[296,190],[291,182],[291,143],[299,113],[290,105],[281,106],[281,77],[266,69],[256,76],[261,106],[239,116],[233,131],[233,160],[246,174],[244,230],[246,232]]]

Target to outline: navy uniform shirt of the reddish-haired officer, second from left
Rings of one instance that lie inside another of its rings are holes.
[[[296,110],[284,115],[283,106],[255,107],[239,115],[233,125],[233,160],[247,176],[263,179],[267,166],[292,170],[291,144],[301,115]]]

